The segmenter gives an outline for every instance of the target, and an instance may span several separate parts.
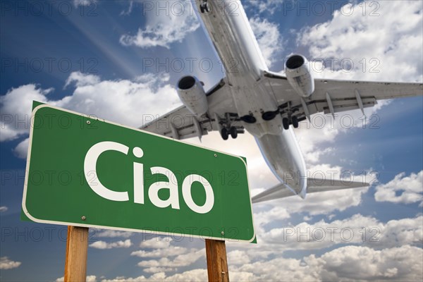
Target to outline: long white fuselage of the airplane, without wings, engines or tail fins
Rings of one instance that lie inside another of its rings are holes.
[[[292,128],[283,129],[281,115],[264,121],[262,114],[276,111],[274,94],[265,89],[263,72],[268,71],[262,52],[240,1],[207,1],[210,11],[199,13],[226,69],[226,80],[238,116],[253,115],[255,123],[245,129],[255,136],[266,163],[274,175],[296,194],[305,197],[305,161]],[[197,0],[197,6],[202,4]]]

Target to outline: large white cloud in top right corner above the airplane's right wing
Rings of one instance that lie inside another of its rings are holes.
[[[403,82],[423,80],[422,63],[419,63],[423,61],[422,2],[377,3],[378,7],[364,3],[365,12],[362,3],[345,4],[341,11],[333,13],[331,20],[300,32],[298,43],[309,49],[313,59],[338,59],[334,68],[326,66],[316,76]],[[375,8],[377,11],[372,13]],[[353,61],[353,68],[345,66],[342,69],[342,60]]]

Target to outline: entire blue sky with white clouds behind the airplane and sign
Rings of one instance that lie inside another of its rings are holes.
[[[167,8],[165,1],[49,3],[0,2],[1,281],[63,276],[66,226],[20,221],[33,99],[140,126],[140,113],[164,114],[180,105],[174,85],[182,75],[196,75],[207,89],[224,75],[185,1],[168,2]],[[300,53],[317,62],[317,78],[423,80],[421,1],[243,5],[272,71],[283,71],[284,58]],[[343,68],[341,61],[353,67]],[[366,114],[367,121],[357,111],[333,122],[315,116],[295,133],[311,173],[353,172],[373,185],[254,206],[259,244],[227,244],[232,281],[422,280],[422,97],[380,102]],[[276,184],[252,136],[223,142],[211,134],[202,145],[247,157],[253,195]],[[321,230],[323,240],[316,238]],[[298,231],[314,240],[298,238]],[[207,278],[202,240],[90,234],[92,281]]]

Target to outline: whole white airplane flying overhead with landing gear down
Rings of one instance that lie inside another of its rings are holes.
[[[379,99],[423,94],[422,83],[368,82],[313,78],[305,56],[293,54],[285,75],[269,71],[239,0],[196,0],[197,14],[225,67],[226,76],[205,92],[187,75],[177,83],[183,103],[140,129],[182,140],[219,130],[223,140],[252,134],[280,183],[252,197],[252,203],[346,188],[368,183],[307,178],[304,157],[293,128],[324,112],[364,109]],[[235,68],[234,68],[235,66]],[[178,124],[172,122],[178,118]]]

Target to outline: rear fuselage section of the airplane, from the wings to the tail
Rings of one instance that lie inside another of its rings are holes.
[[[307,190],[305,161],[295,140],[293,130],[279,135],[256,137],[257,144],[276,178],[298,195]]]

